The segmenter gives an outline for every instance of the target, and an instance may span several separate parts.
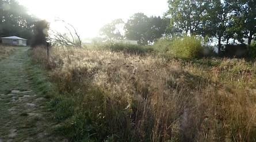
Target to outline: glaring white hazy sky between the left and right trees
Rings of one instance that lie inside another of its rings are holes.
[[[75,26],[82,37],[95,37],[102,26],[117,18],[126,22],[135,13],[162,17],[168,10],[167,0],[17,1],[40,18],[48,21],[52,21],[54,17],[64,19]]]

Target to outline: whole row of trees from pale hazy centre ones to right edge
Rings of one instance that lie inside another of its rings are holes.
[[[207,40],[216,38],[219,50],[221,41],[229,44],[232,39],[243,44],[247,38],[250,44],[256,37],[255,0],[169,0],[167,3],[169,10],[163,17],[136,13],[126,23],[116,19],[104,25],[100,35],[106,40],[136,40],[141,45],[166,35],[200,35]]]

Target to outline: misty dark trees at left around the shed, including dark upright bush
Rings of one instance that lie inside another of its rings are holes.
[[[40,20],[15,0],[0,0],[0,37],[16,35],[27,45],[46,45],[49,22]]]

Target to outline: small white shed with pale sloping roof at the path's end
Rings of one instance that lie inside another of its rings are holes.
[[[16,36],[11,37],[1,37],[2,44],[10,44],[10,45],[19,45],[19,46],[26,46],[26,39]]]

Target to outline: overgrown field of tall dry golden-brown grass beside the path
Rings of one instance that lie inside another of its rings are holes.
[[[256,141],[256,64],[33,49],[55,84],[48,111],[72,141]]]

